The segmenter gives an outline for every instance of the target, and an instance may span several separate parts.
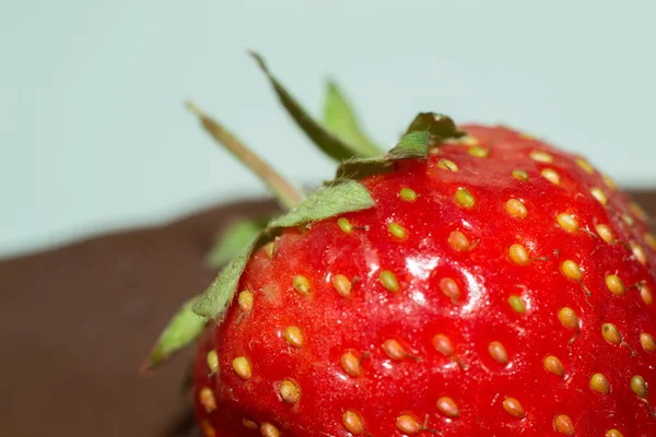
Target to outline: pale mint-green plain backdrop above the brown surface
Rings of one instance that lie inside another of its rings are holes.
[[[0,0],[0,256],[261,194],[186,97],[295,180],[328,178],[248,48],[313,110],[337,78],[382,143],[432,109],[653,185],[655,4]]]

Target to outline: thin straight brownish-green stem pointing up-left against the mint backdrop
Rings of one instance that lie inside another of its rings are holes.
[[[256,155],[246,144],[227,131],[219,122],[210,118],[192,102],[186,102],[187,109],[200,118],[202,127],[230,151],[237,160],[250,168],[269,188],[280,204],[291,210],[303,201],[303,192],[285,179],[273,167]]]

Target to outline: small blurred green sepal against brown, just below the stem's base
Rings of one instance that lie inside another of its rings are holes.
[[[219,237],[206,258],[206,265],[219,269],[237,256],[267,227],[262,218],[247,218],[233,223]]]

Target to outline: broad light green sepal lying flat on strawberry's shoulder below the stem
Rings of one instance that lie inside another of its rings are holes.
[[[344,212],[366,210],[374,204],[365,187],[354,180],[344,180],[313,192],[298,206],[272,220],[269,227],[297,226]]]

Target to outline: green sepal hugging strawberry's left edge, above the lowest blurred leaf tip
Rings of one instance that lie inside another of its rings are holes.
[[[248,245],[242,249],[239,255],[233,258],[232,261],[223,268],[214,282],[194,305],[194,311],[196,314],[209,319],[215,319],[223,315],[225,308],[227,308],[237,292],[239,279],[242,277],[242,273],[246,268],[246,263],[248,262],[258,239],[259,238],[254,238],[248,243]]]

